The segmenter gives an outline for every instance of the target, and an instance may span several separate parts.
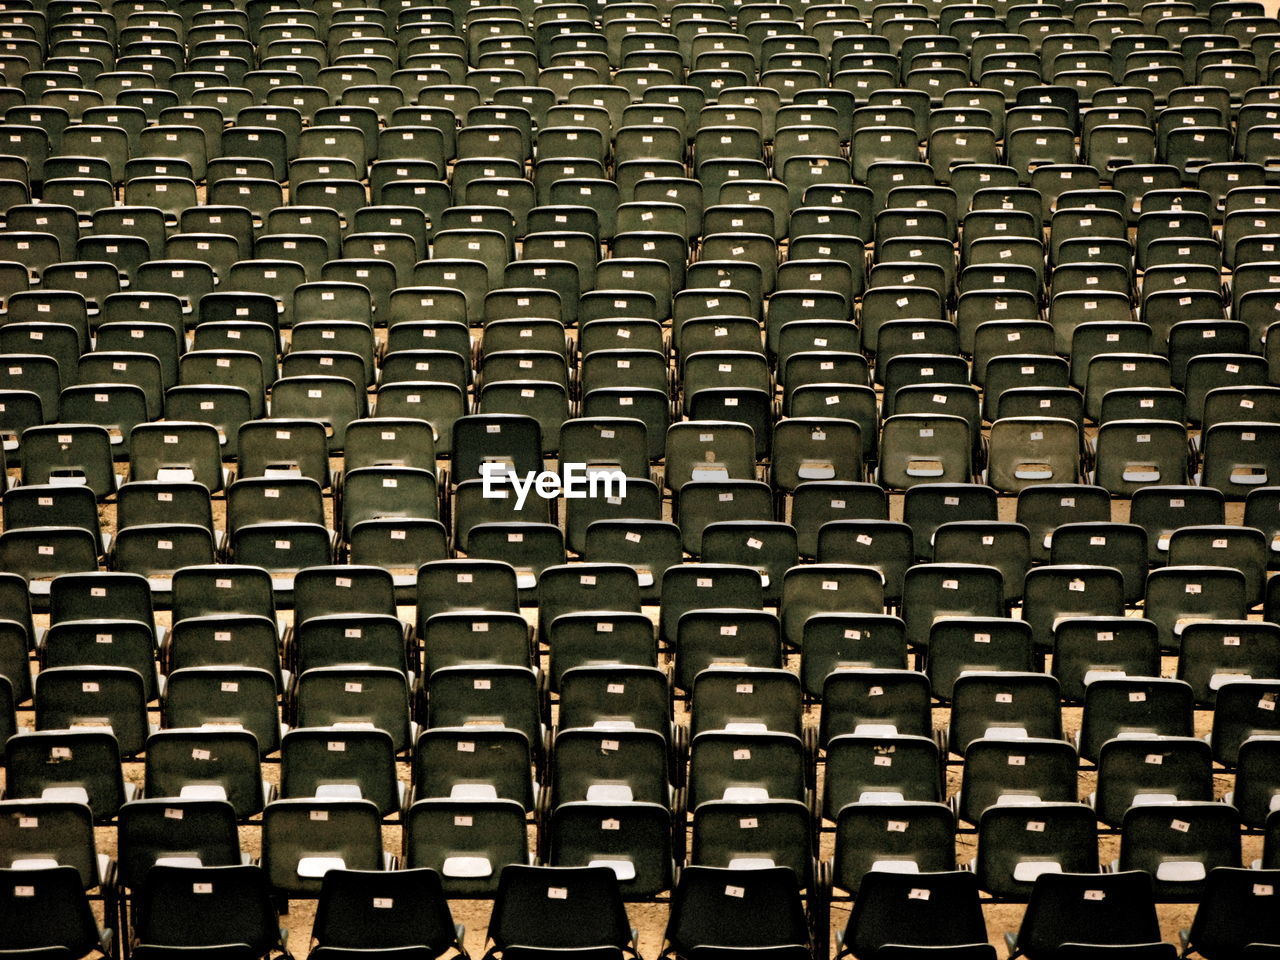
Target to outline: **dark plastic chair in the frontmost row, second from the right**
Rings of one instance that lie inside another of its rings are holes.
[[[1160,941],[1155,890],[1142,870],[1044,873],[1036,878],[1011,957],[1065,960],[1062,945],[1142,945]]]

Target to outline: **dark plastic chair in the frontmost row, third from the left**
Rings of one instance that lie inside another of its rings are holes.
[[[425,946],[431,957],[451,948],[466,956],[440,874],[428,868],[329,870],[320,882],[311,938],[321,948]]]

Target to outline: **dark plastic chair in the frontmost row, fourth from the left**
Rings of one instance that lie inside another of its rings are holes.
[[[613,947],[636,956],[618,881],[608,867],[504,867],[488,942],[486,957],[513,945]]]

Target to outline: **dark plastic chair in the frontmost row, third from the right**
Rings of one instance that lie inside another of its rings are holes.
[[[972,873],[872,870],[858,888],[836,956],[879,956],[886,945],[946,947],[987,942]]]

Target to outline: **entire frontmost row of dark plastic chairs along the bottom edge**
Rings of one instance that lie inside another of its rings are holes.
[[[113,948],[114,931],[95,920],[73,868],[4,874],[6,943],[56,943],[69,956]],[[1270,914],[1274,882],[1274,870],[1215,869],[1190,929],[1181,931],[1185,948],[1207,960],[1272,956],[1276,947],[1267,940],[1276,934]],[[262,869],[252,865],[152,868],[120,940],[131,941],[131,955],[140,960],[198,955],[215,945],[234,960],[285,951],[268,890]],[[785,868],[690,867],[672,896],[662,956],[736,957],[762,948],[786,957],[827,956],[828,927],[826,914],[806,911],[796,878]],[[369,952],[467,956],[439,876],[429,869],[330,870],[311,934],[316,960]],[[225,945],[228,937],[237,946]],[[573,950],[602,960],[636,957],[632,941],[607,868],[508,867],[485,956],[535,960]],[[973,876],[960,872],[869,874],[838,945],[837,956],[859,959],[996,956],[987,945]],[[1016,936],[1009,934],[1011,955],[1029,960],[1085,960],[1115,955],[1116,947],[1153,960],[1178,956],[1160,940],[1149,881],[1137,872],[1047,874],[1037,879]]]

